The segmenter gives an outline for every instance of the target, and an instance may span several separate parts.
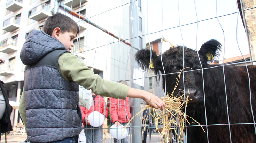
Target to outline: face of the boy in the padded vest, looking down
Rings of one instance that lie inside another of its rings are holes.
[[[57,36],[58,40],[67,48],[67,50],[70,52],[71,48],[74,47],[74,39],[76,38],[76,32],[64,32],[64,33],[59,33]]]

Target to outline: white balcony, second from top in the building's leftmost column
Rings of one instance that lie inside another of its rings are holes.
[[[21,22],[20,18],[13,16],[3,22],[3,30],[12,32],[12,31],[20,28],[20,22]]]

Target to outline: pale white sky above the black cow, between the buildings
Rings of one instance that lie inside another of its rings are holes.
[[[143,6],[146,42],[164,37],[173,45],[199,50],[216,39],[223,45],[220,60],[249,54],[236,0],[144,0]]]

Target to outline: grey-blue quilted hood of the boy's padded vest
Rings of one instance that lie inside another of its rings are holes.
[[[58,39],[43,31],[34,30],[21,48],[21,61],[25,65],[30,65],[38,62],[48,53],[59,49],[67,50]]]

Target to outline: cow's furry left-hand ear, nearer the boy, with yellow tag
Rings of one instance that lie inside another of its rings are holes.
[[[151,60],[150,60],[150,58],[151,58]],[[159,64],[159,60],[161,62],[160,57],[157,56],[155,51],[152,51],[150,49],[142,49],[142,50],[138,51],[135,54],[135,60],[137,61],[139,66],[145,71],[148,71],[149,66],[150,66],[150,69],[154,70],[155,74],[157,74],[157,73],[159,74],[159,71],[161,69],[163,69],[162,64]],[[151,63],[150,63],[150,61],[151,61]],[[158,66],[158,65],[160,65],[160,66]]]

